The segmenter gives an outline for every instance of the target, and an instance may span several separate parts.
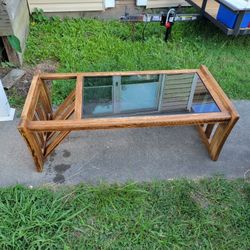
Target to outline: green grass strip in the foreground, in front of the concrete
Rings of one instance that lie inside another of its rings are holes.
[[[0,249],[249,249],[250,184],[0,189]]]

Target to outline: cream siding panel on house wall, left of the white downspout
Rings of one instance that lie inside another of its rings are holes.
[[[30,11],[35,8],[44,12],[102,11],[103,0],[28,0]]]

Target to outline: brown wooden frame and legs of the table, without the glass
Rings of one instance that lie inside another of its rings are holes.
[[[115,76],[140,74],[197,73],[221,112],[159,116],[132,116],[82,119],[83,79],[87,76]],[[76,79],[76,88],[57,108],[52,110],[45,80]],[[195,125],[212,160],[217,160],[221,149],[239,115],[229,98],[205,66],[194,70],[154,70],[98,73],[39,73],[34,76],[21,115],[18,130],[24,137],[38,172],[46,158],[73,130],[114,129],[154,126]]]

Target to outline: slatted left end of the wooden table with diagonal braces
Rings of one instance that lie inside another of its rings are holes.
[[[75,112],[75,89],[53,112],[49,91],[39,75],[34,76],[27,96],[18,130],[31,151],[38,172],[42,172],[48,155],[70,133],[68,131],[39,132],[30,131],[29,121],[68,120]]]

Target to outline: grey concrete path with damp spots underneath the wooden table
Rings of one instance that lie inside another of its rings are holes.
[[[250,175],[250,101],[235,101],[241,119],[217,162],[194,127],[74,132],[37,173],[13,122],[0,123],[0,186],[151,181]]]

